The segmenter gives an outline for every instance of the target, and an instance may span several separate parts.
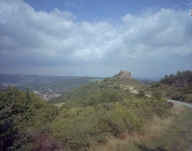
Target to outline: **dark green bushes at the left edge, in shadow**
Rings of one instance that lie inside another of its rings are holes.
[[[26,93],[16,87],[0,91],[1,150],[30,150],[41,129],[56,114],[53,105],[29,94],[28,89]]]

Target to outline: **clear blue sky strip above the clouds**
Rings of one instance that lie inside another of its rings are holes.
[[[53,8],[72,12],[78,21],[117,19],[127,13],[140,15],[144,11],[164,8],[186,9],[182,0],[24,0],[36,11],[50,12]],[[187,7],[188,8],[188,7]]]

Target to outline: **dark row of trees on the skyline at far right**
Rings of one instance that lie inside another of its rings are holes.
[[[192,86],[192,71],[177,71],[175,75],[165,75],[165,77],[161,79],[161,82],[163,84],[174,85],[177,87]]]

